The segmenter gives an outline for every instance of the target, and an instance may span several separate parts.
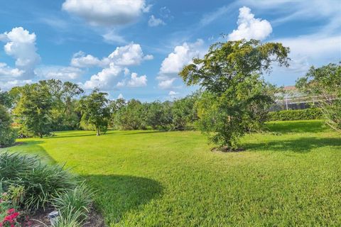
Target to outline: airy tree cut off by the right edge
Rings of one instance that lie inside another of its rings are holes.
[[[296,87],[315,101],[331,128],[341,131],[341,63],[310,67]]]

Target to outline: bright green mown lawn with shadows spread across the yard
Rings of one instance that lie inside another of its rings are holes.
[[[74,167],[109,226],[341,226],[340,134],[321,121],[268,127],[240,153],[212,153],[192,131],[68,131],[10,150]]]

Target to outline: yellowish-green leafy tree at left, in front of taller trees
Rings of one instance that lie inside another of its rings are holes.
[[[20,98],[14,113],[18,116],[22,131],[40,138],[49,135],[52,131],[53,100],[48,87],[43,84],[26,84],[18,91]]]

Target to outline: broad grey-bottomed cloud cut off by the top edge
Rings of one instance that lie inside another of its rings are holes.
[[[126,25],[148,12],[144,0],[66,0],[63,10],[84,18],[92,26]]]

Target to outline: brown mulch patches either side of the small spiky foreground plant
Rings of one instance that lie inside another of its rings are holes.
[[[32,222],[32,227],[45,227],[51,226],[50,221],[48,220],[48,214],[54,211],[53,208],[47,208],[45,211],[43,209],[36,211],[36,214],[31,216],[30,221]],[[38,220],[38,221],[37,221]],[[44,225],[45,224],[45,225]],[[94,209],[90,210],[90,214],[83,225],[85,227],[103,227],[104,218],[99,212]]]

